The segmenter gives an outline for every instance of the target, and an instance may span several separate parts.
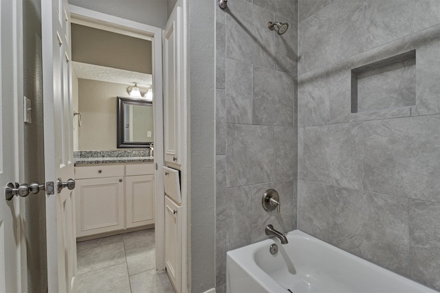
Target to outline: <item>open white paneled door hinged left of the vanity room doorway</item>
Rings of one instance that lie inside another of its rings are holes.
[[[74,178],[70,23],[67,0],[42,0],[43,107],[49,292],[76,292],[74,193],[57,180]],[[70,186],[72,188],[72,185]],[[52,194],[51,194],[52,193]]]

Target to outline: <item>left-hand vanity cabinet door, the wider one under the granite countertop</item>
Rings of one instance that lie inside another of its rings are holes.
[[[76,237],[124,228],[123,176],[76,180]]]

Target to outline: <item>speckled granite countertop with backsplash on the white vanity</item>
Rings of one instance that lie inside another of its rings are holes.
[[[75,165],[153,162],[149,150],[76,151]]]

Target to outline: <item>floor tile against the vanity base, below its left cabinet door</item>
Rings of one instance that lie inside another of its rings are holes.
[[[108,268],[120,263],[125,263],[124,244],[117,242],[101,246],[76,247],[78,274]]]

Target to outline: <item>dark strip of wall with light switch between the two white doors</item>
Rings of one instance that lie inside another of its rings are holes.
[[[23,1],[24,94],[32,100],[32,124],[24,124],[25,182],[44,183],[41,0]],[[28,292],[47,292],[45,196],[26,198]]]

